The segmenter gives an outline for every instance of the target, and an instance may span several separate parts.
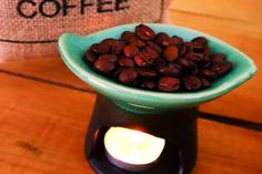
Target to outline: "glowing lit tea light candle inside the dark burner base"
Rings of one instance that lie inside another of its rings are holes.
[[[157,162],[165,140],[125,127],[111,127],[104,135],[109,161],[120,168],[143,171]]]

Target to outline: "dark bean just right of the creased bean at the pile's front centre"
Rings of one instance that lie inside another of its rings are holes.
[[[188,91],[196,91],[201,88],[201,80],[194,75],[188,75],[182,78],[182,83],[185,90]]]

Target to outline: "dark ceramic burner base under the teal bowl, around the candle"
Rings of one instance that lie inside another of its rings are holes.
[[[140,115],[122,110],[110,100],[98,96],[85,141],[85,156],[98,174],[189,174],[196,160],[196,109]],[[147,171],[129,172],[107,158],[103,136],[110,126],[140,127],[165,139],[159,161]]]

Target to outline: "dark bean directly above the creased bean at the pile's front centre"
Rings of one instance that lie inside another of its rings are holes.
[[[160,69],[159,72],[164,76],[179,78],[182,74],[182,66],[175,63],[170,63],[168,66]]]

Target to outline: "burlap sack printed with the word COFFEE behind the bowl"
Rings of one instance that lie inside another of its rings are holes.
[[[0,0],[0,61],[57,57],[63,32],[160,22],[170,0]]]

